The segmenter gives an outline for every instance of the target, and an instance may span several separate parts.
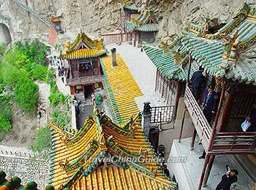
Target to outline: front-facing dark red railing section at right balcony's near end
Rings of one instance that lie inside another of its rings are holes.
[[[256,132],[218,132],[212,153],[241,154],[256,153]]]

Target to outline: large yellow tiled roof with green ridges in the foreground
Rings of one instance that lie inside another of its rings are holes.
[[[94,105],[94,116],[86,118],[79,131],[50,123],[53,153],[50,185],[55,189],[175,189],[165,178],[140,126],[138,113],[123,127],[117,126]],[[104,158],[132,160],[104,161]],[[139,161],[138,158],[148,160]]]

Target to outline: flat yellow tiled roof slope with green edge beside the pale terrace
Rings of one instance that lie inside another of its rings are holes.
[[[105,89],[113,99],[112,102],[110,101],[110,104],[113,104],[110,106],[111,112],[115,113],[113,120],[122,123],[140,111],[135,97],[142,96],[143,93],[119,53],[116,53],[116,62],[117,66],[113,67],[111,56],[102,58],[102,67],[104,67],[103,72],[105,72],[106,78]]]

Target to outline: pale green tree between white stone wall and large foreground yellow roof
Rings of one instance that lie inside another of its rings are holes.
[[[36,139],[31,143],[29,149],[34,152],[34,159],[50,158],[52,139],[50,135],[50,128],[48,126],[44,126],[37,130]]]

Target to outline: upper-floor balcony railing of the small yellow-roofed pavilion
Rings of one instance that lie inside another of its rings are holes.
[[[104,80],[103,75],[91,75],[91,76],[84,76],[84,77],[76,77],[76,78],[68,78],[67,85],[74,86],[74,85],[82,85],[82,84],[92,84],[92,83],[99,83]]]

